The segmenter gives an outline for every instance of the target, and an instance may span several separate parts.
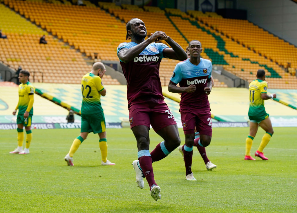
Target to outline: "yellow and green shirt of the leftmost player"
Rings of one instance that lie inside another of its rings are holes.
[[[29,81],[19,85],[18,115],[26,112],[29,105],[29,95],[34,95],[34,92],[35,88]],[[29,111],[29,115],[33,115],[33,107]]]

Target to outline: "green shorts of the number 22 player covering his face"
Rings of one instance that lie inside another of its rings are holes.
[[[95,134],[105,131],[105,118],[103,112],[91,115],[81,114],[80,132],[93,132]]]

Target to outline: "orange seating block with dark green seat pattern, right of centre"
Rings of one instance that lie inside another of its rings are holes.
[[[197,23],[195,20],[176,14],[169,15],[169,18],[188,41],[197,39],[197,35],[199,35],[204,52],[206,52],[213,64],[222,65],[225,70],[231,70],[233,74],[247,79],[249,82],[255,79],[256,71],[263,68],[266,70],[270,88],[297,88],[296,77],[290,77],[278,65],[264,57],[261,58],[252,50],[242,47],[242,45],[231,39],[222,37],[220,33],[207,26],[201,26],[201,23]],[[189,31],[191,24],[198,29]],[[245,63],[245,61],[248,63]],[[281,77],[278,72],[282,73],[284,77]]]

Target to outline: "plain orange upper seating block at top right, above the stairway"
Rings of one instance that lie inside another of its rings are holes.
[[[287,62],[290,62],[291,67],[297,68],[297,47],[247,20],[214,17],[198,19],[279,65],[287,65]]]

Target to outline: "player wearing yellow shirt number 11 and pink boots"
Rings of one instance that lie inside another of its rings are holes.
[[[264,156],[263,149],[266,147],[270,138],[272,136],[273,128],[269,118],[269,114],[266,113],[264,107],[264,100],[271,98],[276,98],[277,95],[271,94],[267,95],[268,84],[265,81],[265,71],[259,69],[257,71],[257,79],[249,84],[249,135],[246,139],[245,145],[245,157],[244,160],[256,160],[251,156],[251,148],[253,144],[254,137],[258,131],[259,126],[265,130],[265,134],[262,137],[262,141],[258,150],[255,152],[255,156],[262,158],[263,160],[268,160]]]

